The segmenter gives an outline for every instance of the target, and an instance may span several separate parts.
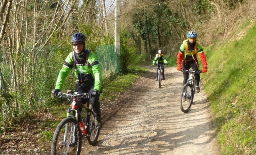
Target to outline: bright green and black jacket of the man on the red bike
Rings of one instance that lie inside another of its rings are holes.
[[[101,75],[99,61],[97,59],[96,54],[93,52],[90,52],[88,56],[89,65],[87,66],[86,65],[87,52],[88,50],[86,50],[86,52],[84,52],[84,54],[80,57],[74,51],[68,54],[65,60],[65,63],[63,64],[60,70],[55,89],[61,90],[66,77],[68,76],[72,68],[75,66],[76,68],[75,75],[77,77],[76,81],[81,80],[85,83],[94,82],[94,89],[100,91],[102,75]],[[75,59],[76,59],[75,61],[73,61],[72,54],[74,54],[75,56]],[[76,62],[76,65],[74,65],[74,62]]]

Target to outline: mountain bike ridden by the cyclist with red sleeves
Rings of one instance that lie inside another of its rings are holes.
[[[196,91],[196,84],[195,84],[195,74],[200,74],[201,71],[191,71],[181,69],[181,72],[188,72],[188,81],[182,87],[181,94],[180,94],[180,109],[182,112],[187,113],[191,105],[193,104],[193,99]]]

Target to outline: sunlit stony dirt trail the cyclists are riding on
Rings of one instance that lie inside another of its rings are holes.
[[[126,94],[125,104],[104,124],[95,146],[83,141],[81,155],[218,155],[215,127],[204,91],[195,95],[188,113],[179,107],[183,75],[165,67],[158,88],[156,67]]]

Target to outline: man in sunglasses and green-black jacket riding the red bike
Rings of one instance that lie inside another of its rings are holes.
[[[88,98],[92,104],[94,113],[96,115],[96,128],[101,129],[101,113],[100,113],[100,89],[101,89],[101,68],[95,53],[85,48],[85,35],[83,33],[74,33],[70,39],[74,51],[69,53],[56,81],[54,89],[54,97],[60,92],[62,85],[72,70],[75,68],[77,80],[75,82],[75,91],[86,93],[88,90]],[[82,103],[86,103],[86,98],[81,97],[78,99]]]

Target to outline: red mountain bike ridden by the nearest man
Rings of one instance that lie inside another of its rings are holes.
[[[54,132],[51,154],[79,155],[82,138],[86,137],[88,143],[94,145],[100,134],[100,130],[95,127],[96,116],[89,99],[85,105],[77,100],[77,97],[88,98],[88,93],[77,94],[69,91],[68,94],[59,92],[58,96],[72,100],[72,109],[68,109],[67,117],[59,123]]]

